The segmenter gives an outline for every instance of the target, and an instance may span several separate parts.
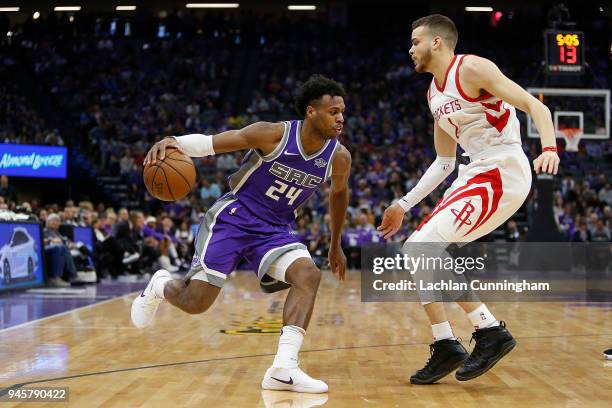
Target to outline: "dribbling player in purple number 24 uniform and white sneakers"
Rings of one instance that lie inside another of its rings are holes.
[[[167,137],[147,154],[146,163],[164,158],[168,148],[192,157],[250,149],[229,184],[231,191],[206,213],[196,237],[196,252],[187,279],[157,271],[132,303],[132,322],[151,325],[159,304],[203,313],[213,304],[226,278],[242,259],[259,279],[291,285],[283,310],[278,352],[266,371],[262,388],[296,392],[327,392],[327,384],[298,367],[298,352],[312,315],[321,271],[306,247],[292,233],[297,208],[331,179],[331,245],[329,264],[344,280],[346,258],[340,236],[349,202],[351,156],[337,137],[344,123],[344,89],[320,75],[305,82],[296,98],[304,120],[257,122],[214,136]]]

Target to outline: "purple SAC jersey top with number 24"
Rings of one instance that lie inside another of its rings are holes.
[[[302,121],[283,122],[285,132],[266,156],[251,149],[240,169],[229,179],[231,193],[257,217],[272,224],[289,224],[297,208],[312,196],[331,174],[336,139],[306,155],[300,133]]]

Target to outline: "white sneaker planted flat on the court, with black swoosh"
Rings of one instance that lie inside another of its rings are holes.
[[[321,380],[315,380],[299,367],[276,368],[270,367],[261,382],[264,390],[295,391],[319,394],[327,392],[328,387]]]

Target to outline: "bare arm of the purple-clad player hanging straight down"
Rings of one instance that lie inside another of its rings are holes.
[[[351,154],[340,146],[332,161],[331,190],[329,192],[329,213],[331,216],[331,243],[329,245],[329,267],[343,281],[346,273],[346,257],[342,252],[340,237],[349,203],[348,178],[351,173]]]

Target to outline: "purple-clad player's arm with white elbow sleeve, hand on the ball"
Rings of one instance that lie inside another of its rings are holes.
[[[228,130],[214,136],[190,134],[166,137],[155,143],[144,164],[166,157],[166,149],[178,149],[191,157],[212,156],[244,149],[259,149],[264,155],[272,152],[283,137],[282,123],[256,122],[239,130]]]

